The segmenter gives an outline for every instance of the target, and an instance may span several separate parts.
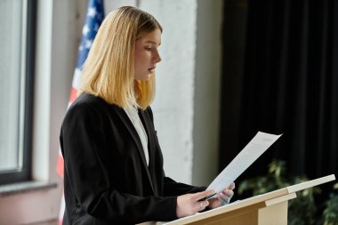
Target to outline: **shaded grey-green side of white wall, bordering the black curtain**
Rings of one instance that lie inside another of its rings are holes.
[[[218,170],[222,0],[197,0],[192,183],[207,185]]]

